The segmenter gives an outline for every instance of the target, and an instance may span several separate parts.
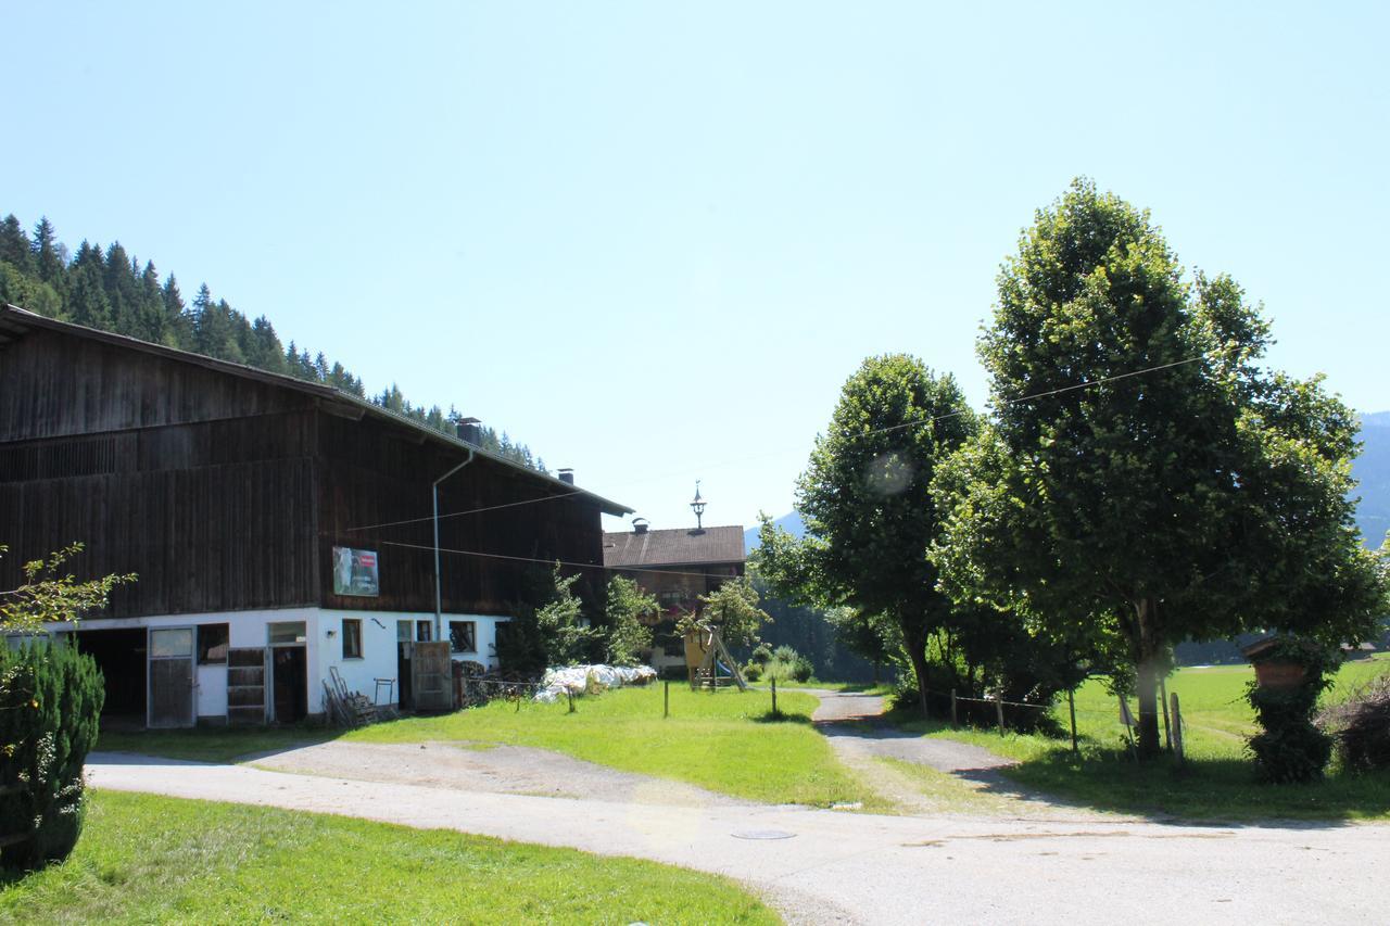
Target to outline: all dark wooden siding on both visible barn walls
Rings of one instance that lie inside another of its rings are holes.
[[[79,574],[140,576],[103,616],[432,612],[430,487],[466,450],[322,407],[293,384],[67,331],[24,334],[0,349],[0,588],[24,560],[81,541]],[[441,545],[467,551],[443,555],[445,609],[513,613],[546,570],[527,560],[556,559],[589,564],[575,570],[580,594],[598,602],[598,503],[567,492],[481,456],[450,478],[443,513],[493,510],[442,521]],[[410,519],[424,520],[352,530]],[[335,545],[379,553],[379,598],[334,595]]]

